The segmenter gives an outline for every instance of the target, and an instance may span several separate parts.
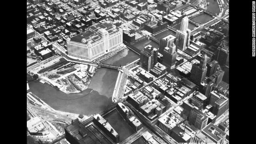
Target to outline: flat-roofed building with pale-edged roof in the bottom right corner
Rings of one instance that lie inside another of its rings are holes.
[[[203,130],[202,133],[208,136],[214,143],[223,144],[226,138],[226,133],[223,132],[220,128],[214,124],[208,124]]]

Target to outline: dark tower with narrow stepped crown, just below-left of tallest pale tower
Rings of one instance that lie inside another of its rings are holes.
[[[165,47],[162,55],[162,64],[170,69],[175,68],[177,52],[174,43],[172,43],[169,48]]]

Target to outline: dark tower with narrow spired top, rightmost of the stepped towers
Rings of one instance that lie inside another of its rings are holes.
[[[204,80],[207,72],[206,62],[208,57],[204,54],[200,60],[200,64],[194,63],[191,68],[190,79],[197,85]]]

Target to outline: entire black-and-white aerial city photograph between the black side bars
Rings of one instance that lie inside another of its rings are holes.
[[[27,0],[27,144],[229,144],[229,0]]]

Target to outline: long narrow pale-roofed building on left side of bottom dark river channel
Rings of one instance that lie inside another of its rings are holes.
[[[120,141],[119,134],[116,132],[116,130],[114,130],[114,128],[112,128],[112,126],[108,123],[107,120],[105,120],[102,116],[100,116],[100,114],[96,114],[93,117],[93,122],[105,134],[107,134],[107,136],[109,136],[114,142],[118,143]]]

